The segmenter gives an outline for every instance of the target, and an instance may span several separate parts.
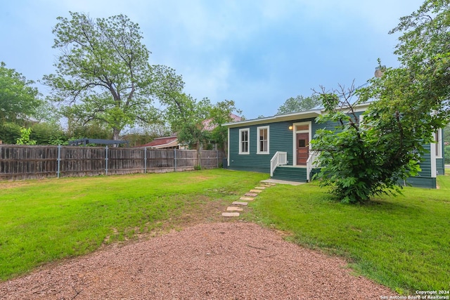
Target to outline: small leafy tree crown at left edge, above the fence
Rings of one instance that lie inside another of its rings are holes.
[[[0,63],[0,122],[18,122],[34,115],[42,102],[32,84],[34,81]]]

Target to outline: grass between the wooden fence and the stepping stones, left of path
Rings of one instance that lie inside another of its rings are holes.
[[[214,221],[267,177],[214,169],[0,181],[0,280],[140,233]]]

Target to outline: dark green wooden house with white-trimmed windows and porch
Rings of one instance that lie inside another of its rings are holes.
[[[359,105],[357,112],[361,114],[367,106]],[[318,129],[331,125],[315,122],[323,113],[314,109],[224,124],[228,127],[227,167],[269,173],[274,179],[309,182],[319,170],[309,141]],[[424,155],[419,176],[409,178],[411,185],[436,188],[437,174],[444,174],[442,136],[439,130],[437,143],[425,145],[430,152]]]

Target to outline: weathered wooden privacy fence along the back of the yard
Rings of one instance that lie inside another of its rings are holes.
[[[223,151],[200,151],[203,169],[221,167]],[[0,180],[188,171],[197,150],[0,145]]]

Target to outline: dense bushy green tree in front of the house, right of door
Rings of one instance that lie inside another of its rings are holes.
[[[368,107],[360,122],[356,107],[368,100],[367,94],[352,86],[347,91],[322,89],[320,95],[326,115],[318,121],[326,128],[316,131],[311,144],[319,152],[321,186],[330,186],[345,203],[400,193],[399,181],[418,174],[423,143],[432,141],[411,126],[423,114],[410,112],[403,98],[387,93]]]

